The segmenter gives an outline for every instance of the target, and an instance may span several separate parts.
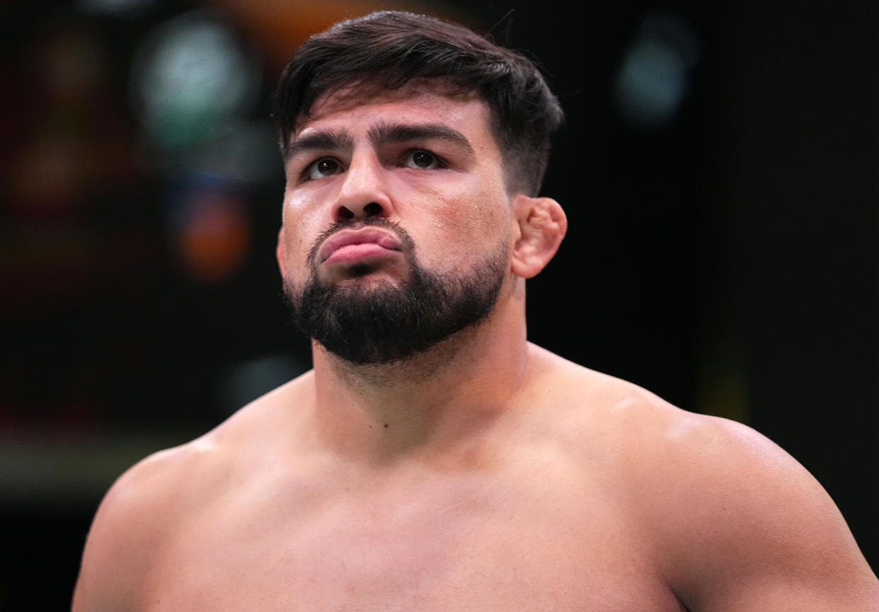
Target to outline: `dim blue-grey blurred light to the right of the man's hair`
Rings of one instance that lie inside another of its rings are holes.
[[[621,115],[643,127],[668,123],[688,90],[687,76],[699,44],[683,18],[648,16],[617,75],[615,101]]]

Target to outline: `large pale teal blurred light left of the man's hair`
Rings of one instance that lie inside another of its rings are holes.
[[[208,11],[157,26],[134,54],[132,103],[153,142],[186,148],[258,94],[257,63]]]

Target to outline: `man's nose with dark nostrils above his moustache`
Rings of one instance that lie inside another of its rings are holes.
[[[386,170],[374,154],[355,155],[339,186],[334,220],[389,217],[391,200],[386,179]]]

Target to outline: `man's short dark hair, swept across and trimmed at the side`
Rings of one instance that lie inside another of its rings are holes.
[[[510,191],[540,191],[552,135],[564,115],[534,62],[464,26],[407,12],[342,21],[306,40],[281,73],[272,114],[286,152],[296,122],[317,98],[345,85],[396,89],[436,78],[476,91],[489,105]]]

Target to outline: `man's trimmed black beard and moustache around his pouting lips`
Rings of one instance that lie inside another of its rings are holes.
[[[355,224],[338,222],[318,238],[304,288],[297,290],[292,281],[284,281],[294,323],[327,351],[358,365],[409,360],[489,316],[504,282],[505,244],[464,273],[440,275],[418,264],[411,237],[402,228],[370,217],[364,224],[392,230],[403,241],[403,254],[411,262],[409,279],[399,287],[370,288],[318,280],[317,248],[325,237]],[[369,268],[355,272],[365,274]]]

